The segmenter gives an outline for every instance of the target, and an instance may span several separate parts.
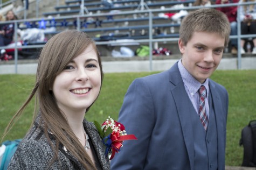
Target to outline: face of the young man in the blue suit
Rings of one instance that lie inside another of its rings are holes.
[[[200,83],[218,67],[224,51],[225,38],[218,33],[195,32],[186,46],[179,39],[182,64]]]

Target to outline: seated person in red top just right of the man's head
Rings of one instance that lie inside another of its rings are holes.
[[[216,0],[216,4],[230,4],[238,3],[239,0]],[[216,8],[219,11],[225,13],[227,18],[229,18],[231,32],[230,35],[237,35],[237,6],[227,6],[223,8]],[[230,39],[231,42],[231,53],[237,54],[237,39]]]

